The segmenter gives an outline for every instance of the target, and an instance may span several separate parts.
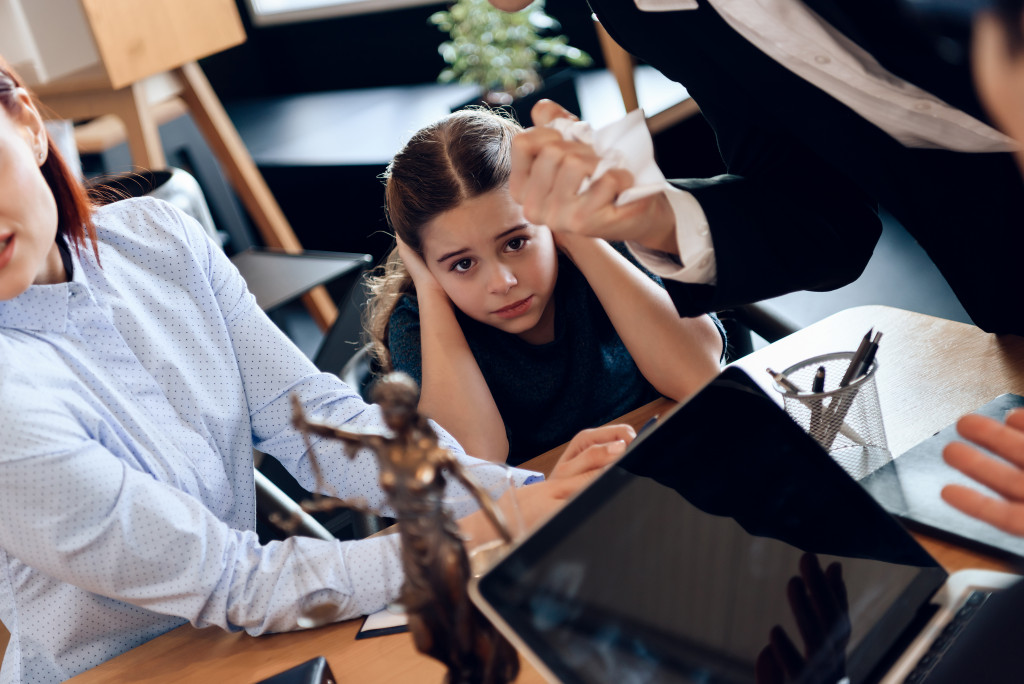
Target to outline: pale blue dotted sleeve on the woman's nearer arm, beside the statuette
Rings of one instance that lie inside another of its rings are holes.
[[[15,397],[0,399],[0,417],[11,418]],[[96,601],[251,634],[296,629],[306,597],[331,600],[343,618],[397,596],[396,540],[260,545],[255,532],[128,467],[59,411],[35,408],[16,412],[6,431],[18,458],[0,461],[0,547],[27,566]]]

